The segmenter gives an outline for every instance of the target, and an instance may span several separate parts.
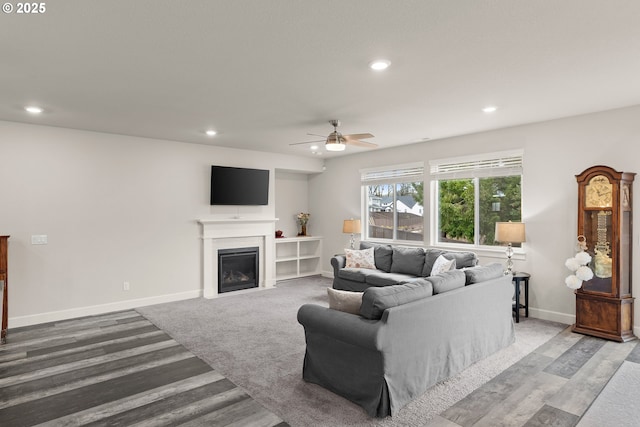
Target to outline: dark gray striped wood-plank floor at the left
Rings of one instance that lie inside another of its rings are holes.
[[[0,426],[287,426],[135,311],[11,329]]]

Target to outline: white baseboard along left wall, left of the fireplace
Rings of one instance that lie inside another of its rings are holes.
[[[149,298],[140,298],[127,301],[118,301],[109,304],[92,305],[89,307],[72,308],[69,310],[50,311],[47,313],[31,314],[28,316],[9,317],[9,330],[22,326],[38,325],[40,323],[57,322],[60,320],[74,319],[76,317],[94,316],[96,314],[110,313],[113,311],[130,310],[146,305],[162,304],[165,302],[181,301],[185,299],[199,298],[202,290],[180,292],[177,294],[160,295]]]

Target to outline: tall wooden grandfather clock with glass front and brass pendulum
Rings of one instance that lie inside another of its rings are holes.
[[[614,341],[633,335],[631,296],[632,184],[635,173],[593,166],[578,180],[578,236],[584,236],[593,278],[576,294],[573,331]]]

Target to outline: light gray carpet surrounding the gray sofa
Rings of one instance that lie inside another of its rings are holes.
[[[328,306],[329,286],[330,279],[313,276],[279,282],[274,289],[138,311],[292,426],[424,425],[566,327],[521,318],[514,344],[436,384],[396,416],[375,419],[302,380],[305,341],[298,308],[305,303]]]

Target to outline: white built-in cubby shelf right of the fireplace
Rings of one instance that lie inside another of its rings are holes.
[[[283,237],[276,239],[276,280],[320,274],[322,237]]]

